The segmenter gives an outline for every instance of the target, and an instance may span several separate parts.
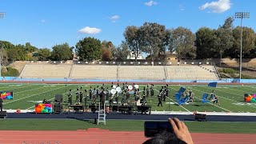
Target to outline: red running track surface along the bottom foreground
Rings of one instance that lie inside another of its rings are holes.
[[[251,144],[256,134],[192,134],[195,144]],[[0,144],[139,144],[145,142],[142,131],[109,131],[99,129],[1,130]]]

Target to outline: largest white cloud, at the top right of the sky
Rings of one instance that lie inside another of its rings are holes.
[[[210,9],[213,13],[222,13],[226,10],[230,10],[230,0],[218,0],[218,2],[207,2],[199,7],[200,10]]]

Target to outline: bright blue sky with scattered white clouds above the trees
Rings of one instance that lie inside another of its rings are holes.
[[[256,31],[255,6],[255,0],[0,0],[6,15],[0,18],[0,40],[51,49],[94,37],[118,46],[126,26],[158,22],[195,33],[202,26],[217,29],[235,12],[250,12],[243,26]],[[240,22],[235,19],[234,26]]]

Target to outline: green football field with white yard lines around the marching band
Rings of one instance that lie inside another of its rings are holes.
[[[42,101],[44,98],[54,100],[55,94],[65,94],[66,90],[71,89],[73,91],[73,100],[75,98],[75,91],[78,87],[82,86],[83,90],[89,90],[101,85],[42,85],[42,84],[1,84],[0,90],[12,90],[14,91],[13,100],[4,101],[4,109],[6,110],[33,110],[34,102],[30,101]],[[109,87],[110,85],[106,85]],[[140,86],[140,90],[143,90],[144,86]],[[162,107],[158,107],[158,90],[162,86],[154,86],[154,97],[147,98],[148,105],[152,106],[152,110],[163,111],[166,110],[168,104],[163,102]],[[256,86],[218,86],[215,88],[216,94],[219,96],[221,106],[214,106],[211,103],[202,103],[202,94],[210,93],[213,90],[212,87],[208,86],[186,86],[188,89],[192,89],[195,94],[195,102],[189,105],[178,106],[175,102],[174,94],[178,91],[180,86],[169,86],[170,87],[170,99],[166,99],[166,102],[171,102],[170,107],[173,111],[216,111],[216,112],[256,112],[256,103],[243,102],[243,95],[246,93],[255,94]],[[133,95],[130,95],[130,100],[133,100]],[[66,98],[64,98],[66,100]],[[98,99],[99,101],[99,99]],[[121,101],[121,98],[119,98]]]

